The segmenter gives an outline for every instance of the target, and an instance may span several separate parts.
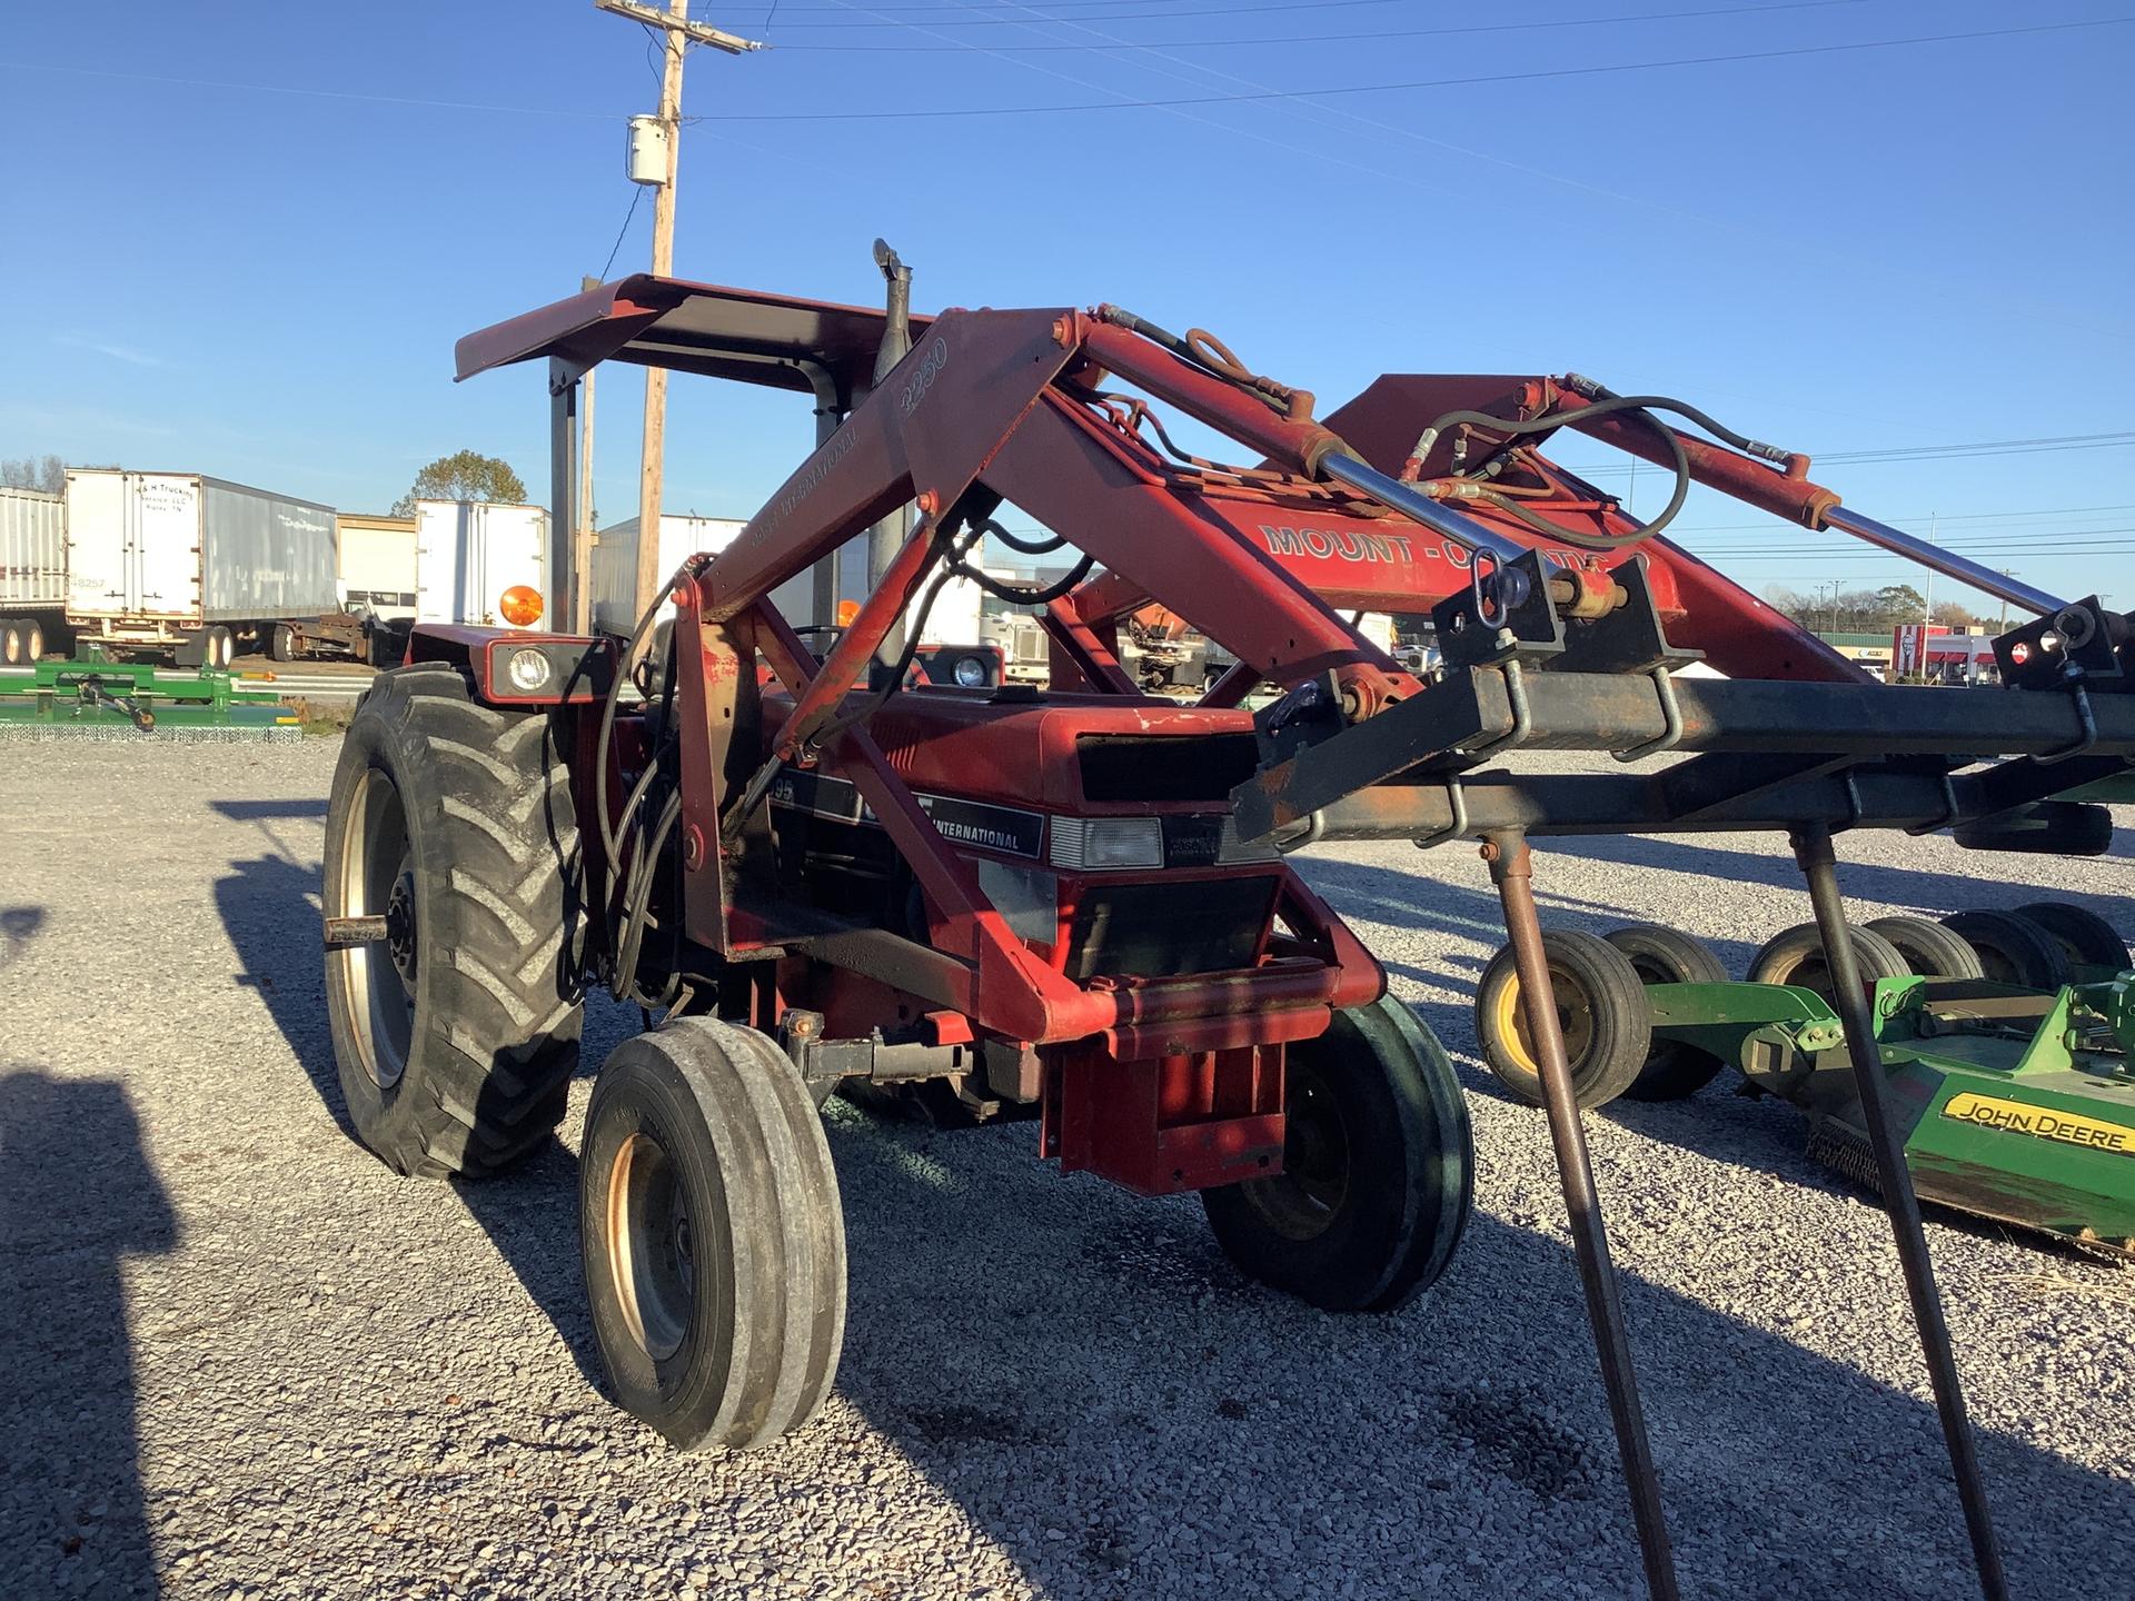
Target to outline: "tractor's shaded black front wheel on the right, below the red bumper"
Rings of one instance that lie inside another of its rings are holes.
[[[1475,1185],[1445,1050],[1392,995],[1290,1046],[1283,1172],[1202,1191],[1232,1266],[1330,1313],[1390,1313],[1460,1245]]]

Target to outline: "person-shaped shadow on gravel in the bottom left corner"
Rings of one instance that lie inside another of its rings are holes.
[[[9,1595],[160,1592],[122,1264],[177,1242],[124,1084],[28,1063],[0,1069]]]

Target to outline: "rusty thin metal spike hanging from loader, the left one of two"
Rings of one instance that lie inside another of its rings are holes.
[[[1595,1195],[1595,1170],[1586,1157],[1586,1129],[1580,1127],[1580,1108],[1571,1097],[1571,1067],[1565,1063],[1565,1031],[1556,1018],[1550,961],[1541,950],[1541,920],[1535,916],[1533,860],[1527,837],[1520,833],[1490,835],[1484,841],[1482,858],[1490,865],[1490,879],[1505,907],[1505,933],[1512,939],[1514,971],[1520,976],[1520,1005],[1527,1012],[1527,1033],[1535,1044],[1535,1063],[1541,1067],[1550,1142],[1556,1146],[1556,1174],[1565,1185],[1565,1210],[1571,1215],[1571,1251],[1578,1255],[1580,1283],[1586,1287],[1586,1317],[1595,1330],[1601,1385],[1608,1390],[1610,1420],[1616,1424],[1616,1452],[1623,1456],[1623,1477],[1631,1490],[1631,1518],[1638,1522],[1646,1588],[1655,1601],[1676,1601],[1676,1556],[1667,1545],[1661,1484],[1652,1473],[1652,1445],[1646,1439],[1646,1417],[1638,1405],[1631,1338],[1623,1326],[1616,1270],[1608,1259],[1608,1232],[1601,1227],[1601,1200]]]

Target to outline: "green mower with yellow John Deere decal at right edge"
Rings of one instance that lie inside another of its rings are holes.
[[[1883,978],[1875,1031],[1921,1200],[2135,1255],[2135,973],[2056,993]],[[1655,1040],[1712,1052],[1810,1119],[1810,1151],[1875,1183],[1832,1005],[1789,984],[1648,984]]]

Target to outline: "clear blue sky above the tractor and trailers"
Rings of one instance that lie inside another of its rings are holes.
[[[623,120],[655,102],[634,23],[589,0],[9,13],[0,455],[361,510],[465,446],[540,493],[540,374],[453,384],[453,339],[608,258]],[[1377,371],[1576,369],[1810,453],[2058,442],[1817,478],[2135,604],[2135,0],[696,13],[773,47],[692,51],[685,278],[873,301],[886,235],[920,307],[1119,301],[1330,406]],[[1430,88],[1266,98],[1388,83]],[[647,192],[611,275],[649,220]],[[619,371],[602,521],[636,510],[636,416]],[[801,399],[677,382],[668,506],[747,514],[809,438]],[[1638,508],[1663,493],[1642,470]],[[1706,497],[1680,527],[1755,589],[1904,576]]]

